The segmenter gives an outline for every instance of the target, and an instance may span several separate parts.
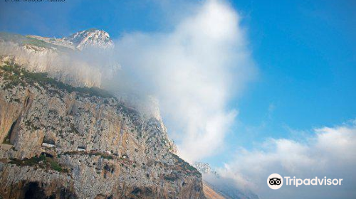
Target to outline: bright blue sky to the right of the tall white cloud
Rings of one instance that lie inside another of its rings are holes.
[[[234,141],[251,148],[267,137],[300,139],[355,119],[355,1],[233,4],[260,70],[237,102]]]

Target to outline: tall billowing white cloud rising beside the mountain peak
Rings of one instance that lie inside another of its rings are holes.
[[[168,130],[189,161],[224,145],[237,114],[227,104],[254,73],[239,14],[214,0],[192,10],[168,33],[127,33],[115,43],[122,65],[118,86],[159,99]]]

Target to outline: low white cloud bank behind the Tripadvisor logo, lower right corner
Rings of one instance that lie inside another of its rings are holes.
[[[303,141],[270,139],[261,149],[241,149],[234,161],[219,170],[236,187],[251,189],[261,198],[355,198],[356,122],[340,127],[314,129]],[[343,178],[341,186],[283,187],[271,191],[271,173],[296,178]]]

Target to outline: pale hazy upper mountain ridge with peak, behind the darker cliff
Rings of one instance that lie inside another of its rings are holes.
[[[83,52],[93,47],[95,53]],[[50,77],[77,87],[101,87],[120,70],[120,64],[108,59],[102,50],[113,43],[105,31],[90,29],[68,38],[46,38],[0,33],[0,61],[26,66],[31,72],[48,72]]]

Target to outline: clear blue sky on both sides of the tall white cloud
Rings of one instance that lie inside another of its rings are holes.
[[[268,137],[300,137],[300,131],[355,119],[355,1],[229,4],[242,17],[258,77],[229,103],[239,116],[225,155],[206,161],[220,166],[239,146],[250,149]],[[0,31],[62,37],[100,28],[120,38],[169,31],[182,12],[189,6],[167,1],[1,1]]]

